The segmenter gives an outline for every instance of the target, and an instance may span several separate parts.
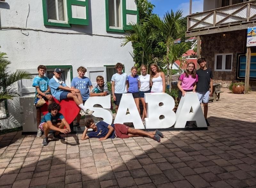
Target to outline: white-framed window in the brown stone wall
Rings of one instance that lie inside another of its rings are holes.
[[[232,71],[233,54],[215,54],[215,71]]]

